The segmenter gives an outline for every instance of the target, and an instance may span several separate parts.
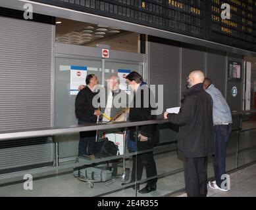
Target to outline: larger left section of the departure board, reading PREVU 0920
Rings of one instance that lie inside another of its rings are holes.
[[[33,0],[205,39],[203,0]]]

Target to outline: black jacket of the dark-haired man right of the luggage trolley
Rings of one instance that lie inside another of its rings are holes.
[[[133,107],[130,108],[129,113],[129,121],[146,121],[156,119],[156,116],[151,114],[151,110],[153,110],[150,104],[151,97],[153,97],[152,92],[149,90],[147,85],[144,85],[142,83],[140,89],[138,89],[138,91],[134,94],[134,99],[132,101]],[[136,108],[136,98],[140,98],[141,102],[141,106],[138,108]],[[144,99],[148,103],[144,104]],[[151,101],[155,102],[154,99]],[[134,133],[134,131],[136,131],[135,128],[131,128],[130,130],[131,133]],[[156,125],[144,125],[139,127],[139,133],[141,133],[141,135],[143,135],[144,137],[149,137],[149,141],[158,141],[158,135],[153,135],[157,132],[158,130]]]

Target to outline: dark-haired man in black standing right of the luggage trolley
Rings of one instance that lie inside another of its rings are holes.
[[[151,114],[150,97],[153,97],[151,91],[147,85],[143,82],[143,78],[137,72],[131,72],[126,76],[126,83],[134,91],[133,106],[130,108],[129,120],[130,121],[145,121],[155,119],[156,116]],[[130,139],[136,140],[136,129],[130,129],[129,131]],[[144,154],[138,154],[137,156],[137,169],[136,169],[136,157],[133,158],[132,166],[132,179],[131,182],[136,180],[136,171],[137,171],[137,180],[141,180],[143,167],[146,169],[147,179],[157,176],[157,168],[155,165],[155,160],[153,158],[153,133],[156,133],[155,127],[153,125],[146,125],[139,127],[138,131],[138,142],[137,142],[137,151],[143,152],[143,150],[151,150]],[[129,148],[129,152],[131,151]],[[139,193],[145,194],[151,191],[157,190],[157,178],[147,181],[147,186],[139,190]]]

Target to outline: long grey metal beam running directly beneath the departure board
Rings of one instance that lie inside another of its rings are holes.
[[[182,35],[179,33],[174,33],[165,30],[159,30],[156,28],[151,28],[148,26],[141,26],[138,24],[133,24],[131,22],[125,22],[122,20],[115,20],[113,18],[107,18],[95,14],[89,14],[86,12],[74,11],[72,9],[64,9],[61,7],[56,7],[52,5],[46,5],[43,3],[36,3],[34,1],[28,0],[2,0],[1,6],[7,7],[11,9],[18,9],[23,11],[23,6],[25,3],[31,3],[33,5],[33,11],[39,14],[46,14],[49,16],[57,16],[60,18],[67,18],[71,20],[82,21],[86,20],[86,22],[90,22],[92,24],[103,24],[107,26],[115,26],[122,30],[135,31],[137,33],[145,33],[148,35],[153,35],[157,37],[163,37],[165,39],[172,39],[176,41],[181,41],[185,43],[191,43],[194,45],[199,45],[203,47],[209,47],[212,49],[218,49],[220,51],[226,51],[236,54],[243,54],[247,56],[256,56],[255,52],[246,51],[243,49],[238,49],[236,47],[230,47],[228,45],[222,45],[219,43],[214,43],[212,41],[207,41],[205,39],[199,39],[196,37],[190,37],[188,35]]]

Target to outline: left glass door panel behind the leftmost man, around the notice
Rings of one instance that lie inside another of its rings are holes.
[[[95,74],[101,79],[101,60],[74,58],[55,59],[55,126],[78,125],[74,102],[76,95],[70,95],[70,66],[86,66],[87,74]],[[86,81],[83,83],[86,84]],[[69,158],[78,154],[79,134],[55,136],[59,142],[59,158]]]

